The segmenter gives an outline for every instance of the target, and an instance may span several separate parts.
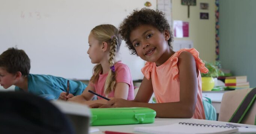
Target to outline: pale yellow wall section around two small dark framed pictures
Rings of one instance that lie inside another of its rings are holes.
[[[200,3],[209,3],[209,9],[200,9]],[[196,6],[190,6],[189,18],[187,12],[188,7],[181,5],[181,0],[172,0],[172,20],[189,22],[189,37],[174,40],[192,40],[202,60],[215,61],[215,0],[196,0]],[[200,12],[208,12],[209,19],[200,19]]]

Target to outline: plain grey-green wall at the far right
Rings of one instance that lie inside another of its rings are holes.
[[[220,0],[220,61],[256,86],[256,0]]]

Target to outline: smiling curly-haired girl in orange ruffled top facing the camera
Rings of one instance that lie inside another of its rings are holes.
[[[158,10],[135,10],[124,19],[120,33],[132,54],[147,61],[144,79],[134,100],[109,100],[92,108],[147,107],[160,118],[205,119],[201,74],[208,69],[195,48],[172,50],[170,26]],[[152,94],[157,103],[148,103]]]

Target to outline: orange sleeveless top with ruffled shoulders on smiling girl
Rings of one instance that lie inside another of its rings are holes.
[[[199,52],[196,51],[195,48],[181,49],[175,52],[167,61],[165,61],[165,63],[158,67],[156,66],[156,63],[147,62],[141,71],[147,79],[151,78],[157,103],[179,102],[180,79],[177,63],[178,57],[183,51],[188,51],[193,55],[196,60],[196,66],[198,68],[198,93],[196,108],[192,118],[205,119],[204,106],[202,102],[202,82],[200,72],[207,73],[208,69],[199,58]]]

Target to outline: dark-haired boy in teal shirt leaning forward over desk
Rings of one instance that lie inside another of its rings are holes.
[[[69,94],[66,95],[67,79],[51,75],[30,74],[30,59],[23,50],[9,48],[0,55],[0,84],[4,89],[15,85],[15,91],[35,95],[53,95],[55,99],[67,100],[81,95],[86,84],[69,80]]]

